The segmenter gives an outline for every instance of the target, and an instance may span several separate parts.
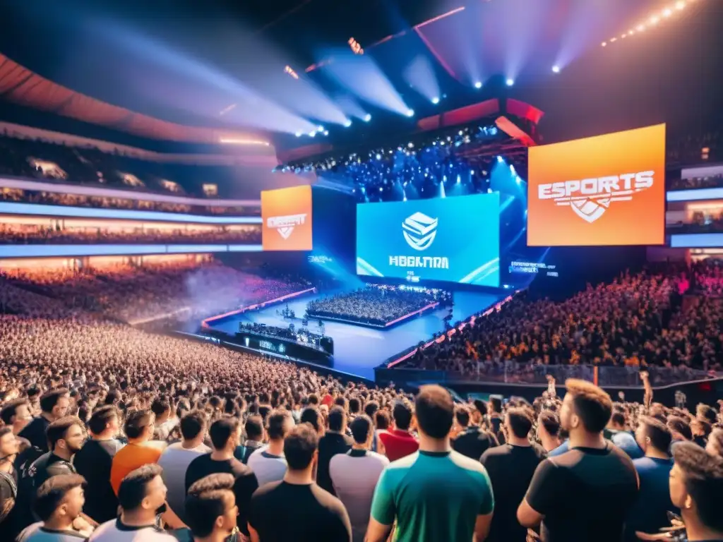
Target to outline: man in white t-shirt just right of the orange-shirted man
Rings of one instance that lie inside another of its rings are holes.
[[[186,522],[184,501],[186,499],[186,470],[199,455],[208,454],[210,448],[203,444],[208,421],[200,410],[193,410],[181,418],[183,440],[171,444],[161,454],[158,465],[163,468],[161,478],[168,488],[168,506]]]

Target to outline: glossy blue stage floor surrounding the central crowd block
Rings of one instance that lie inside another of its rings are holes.
[[[455,292],[453,322],[464,320],[478,311],[487,309],[508,295],[509,291],[500,291],[497,295]],[[315,298],[317,295],[301,296],[290,301],[288,306],[300,317],[306,311],[307,303]],[[284,306],[278,304],[259,311],[249,311],[212,327],[231,334],[239,330],[239,322],[258,322],[287,327],[291,322],[276,314],[276,311],[283,309]],[[374,368],[382,361],[416,345],[419,341],[429,340],[432,335],[444,330],[445,324],[442,319],[447,312],[442,309],[424,314],[422,317],[413,317],[409,322],[399,324],[390,330],[374,330],[354,324],[324,320],[325,334],[334,340],[333,369],[373,380]],[[316,321],[315,319],[309,322],[309,330],[312,332],[316,331],[314,323]],[[294,320],[297,326],[300,322],[300,318]]]

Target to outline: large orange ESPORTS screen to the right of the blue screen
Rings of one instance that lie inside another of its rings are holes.
[[[665,241],[665,125],[529,149],[529,246]]]

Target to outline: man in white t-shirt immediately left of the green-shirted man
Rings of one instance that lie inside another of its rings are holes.
[[[374,424],[369,416],[356,416],[349,429],[354,444],[346,454],[331,458],[329,475],[336,496],[349,513],[353,541],[362,542],[367,533],[374,490],[389,460],[369,449],[374,439]]]

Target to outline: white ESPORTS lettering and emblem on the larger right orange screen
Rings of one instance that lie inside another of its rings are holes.
[[[541,184],[537,193],[539,199],[553,199],[557,205],[570,205],[578,217],[593,223],[604,215],[612,202],[629,202],[636,192],[653,186],[654,174],[654,171],[641,171]]]

